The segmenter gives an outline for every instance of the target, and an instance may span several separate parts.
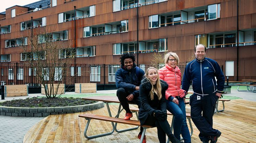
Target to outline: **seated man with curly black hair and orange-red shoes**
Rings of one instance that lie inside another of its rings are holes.
[[[141,106],[139,97],[139,87],[144,75],[144,71],[136,66],[135,56],[132,54],[123,54],[120,57],[121,68],[116,71],[116,95],[123,109],[126,111],[125,120],[130,120],[132,112],[128,102],[135,102],[138,108]],[[141,127],[141,133],[143,128]],[[138,135],[140,139],[141,134]],[[144,136],[143,142],[146,142]]]

